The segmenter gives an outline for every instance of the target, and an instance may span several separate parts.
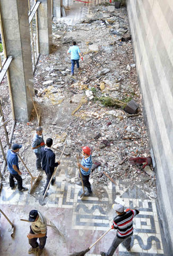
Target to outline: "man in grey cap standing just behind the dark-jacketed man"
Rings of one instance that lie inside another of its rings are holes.
[[[33,140],[32,140],[32,149],[34,151],[34,154],[36,155],[37,170],[42,170],[40,150],[43,147],[45,147],[45,142],[44,142],[44,138],[42,135],[42,128],[41,128],[41,126],[39,126],[36,128],[36,134],[34,135]]]

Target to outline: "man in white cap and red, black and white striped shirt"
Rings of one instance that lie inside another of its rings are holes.
[[[139,214],[140,211],[129,209],[127,212],[125,212],[122,204],[113,204],[113,209],[118,215],[114,218],[114,223],[111,227],[112,229],[117,229],[117,234],[108,252],[100,252],[101,256],[113,256],[120,243],[123,243],[127,251],[131,250],[133,218],[136,214]]]

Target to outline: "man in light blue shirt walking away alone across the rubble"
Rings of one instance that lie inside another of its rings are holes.
[[[83,60],[81,51],[79,49],[79,47],[76,45],[76,42],[73,42],[73,46],[71,46],[67,53],[71,53],[71,63],[72,63],[72,75],[74,75],[74,65],[76,63],[77,68],[79,68],[79,59],[81,57],[81,59]]]

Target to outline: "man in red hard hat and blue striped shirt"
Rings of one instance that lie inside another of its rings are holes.
[[[89,182],[89,177],[90,177],[91,167],[92,167],[91,149],[87,146],[83,147],[82,157],[79,157],[79,159],[82,159],[81,163],[76,163],[76,164],[81,168],[83,185],[88,189],[88,191],[84,194],[84,196],[92,196],[91,184]],[[81,181],[76,182],[76,184],[79,186],[82,186]]]

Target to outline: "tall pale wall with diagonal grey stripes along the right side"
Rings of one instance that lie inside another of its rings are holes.
[[[163,225],[173,244],[173,2],[126,0]],[[173,255],[173,254],[172,254]]]

